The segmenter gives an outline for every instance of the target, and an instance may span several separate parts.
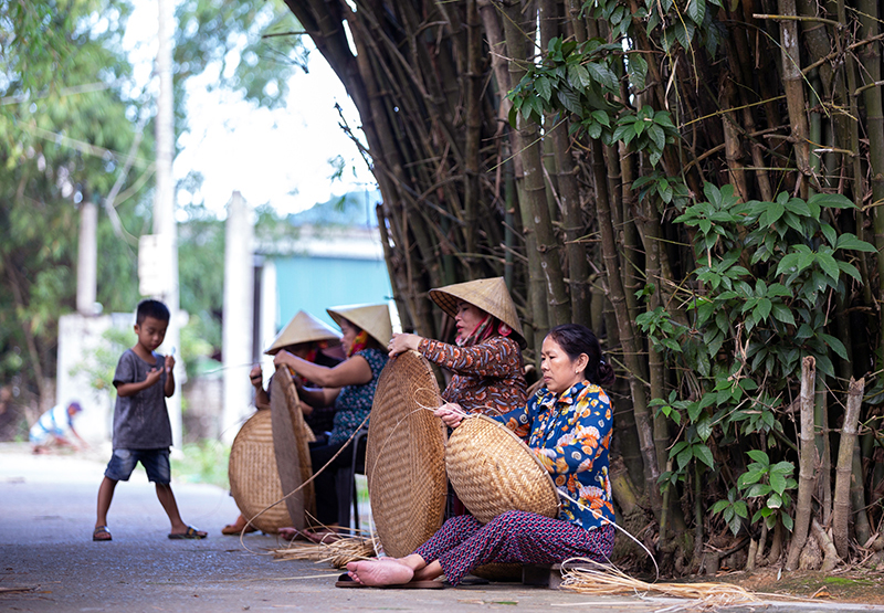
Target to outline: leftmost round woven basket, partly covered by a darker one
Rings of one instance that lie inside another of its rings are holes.
[[[270,411],[257,411],[242,424],[230,448],[228,476],[236,506],[254,527],[276,533],[280,528],[292,525],[282,500]],[[274,503],[277,504],[257,515]]]

